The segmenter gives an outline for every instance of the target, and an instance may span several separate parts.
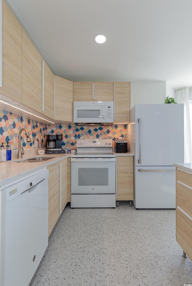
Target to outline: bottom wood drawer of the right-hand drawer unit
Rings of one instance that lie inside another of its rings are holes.
[[[192,260],[192,220],[190,220],[190,218],[183,214],[178,208],[176,210],[176,218],[176,241],[190,260]]]

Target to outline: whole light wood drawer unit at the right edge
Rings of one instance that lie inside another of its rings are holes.
[[[192,260],[192,173],[176,168],[176,241]]]

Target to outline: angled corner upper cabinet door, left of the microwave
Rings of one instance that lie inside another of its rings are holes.
[[[73,82],[55,76],[55,117],[73,122]]]

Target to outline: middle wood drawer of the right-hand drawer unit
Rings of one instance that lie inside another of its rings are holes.
[[[188,188],[177,181],[176,202],[192,217],[192,188]]]

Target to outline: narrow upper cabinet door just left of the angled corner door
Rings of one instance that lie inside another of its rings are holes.
[[[52,71],[49,69],[49,66],[44,62],[44,98],[42,98],[44,102],[44,111],[42,114],[53,118],[53,110],[54,110],[54,75]],[[43,64],[43,63],[42,63]]]

